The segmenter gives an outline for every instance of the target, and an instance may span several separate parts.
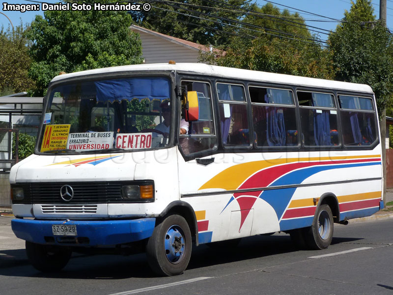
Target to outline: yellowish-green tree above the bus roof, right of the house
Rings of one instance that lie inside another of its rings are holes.
[[[239,30],[225,49],[225,55],[216,59],[202,54],[200,60],[218,65],[251,70],[332,79],[331,56],[307,29],[298,14],[282,12],[268,3],[253,9],[245,22],[259,27],[256,31]],[[280,19],[272,16],[280,17]],[[284,20],[295,21],[297,24]],[[245,25],[242,26],[246,28]],[[254,38],[249,38],[249,35]]]

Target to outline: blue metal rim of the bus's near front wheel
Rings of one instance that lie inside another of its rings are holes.
[[[178,225],[172,225],[165,235],[165,254],[169,262],[177,264],[184,256],[184,233]]]

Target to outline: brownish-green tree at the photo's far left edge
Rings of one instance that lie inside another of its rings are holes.
[[[0,29],[0,96],[27,91],[34,86],[28,77],[31,59],[28,56],[26,27]]]

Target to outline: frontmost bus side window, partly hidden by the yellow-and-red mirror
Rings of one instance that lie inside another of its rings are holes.
[[[188,134],[179,135],[179,144],[185,154],[209,150],[216,145],[210,85],[203,82],[182,81],[187,91],[197,91],[199,119],[189,122]]]

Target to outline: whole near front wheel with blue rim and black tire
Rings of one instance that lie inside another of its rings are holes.
[[[182,274],[191,258],[192,240],[187,221],[169,215],[153,231],[146,245],[151,269],[162,276]]]

